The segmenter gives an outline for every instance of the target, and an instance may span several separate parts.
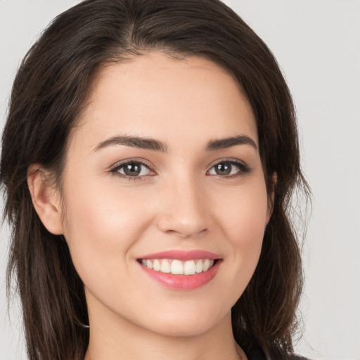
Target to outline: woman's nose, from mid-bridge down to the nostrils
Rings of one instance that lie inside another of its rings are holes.
[[[160,196],[160,231],[182,238],[207,231],[206,195],[194,179],[178,179]]]

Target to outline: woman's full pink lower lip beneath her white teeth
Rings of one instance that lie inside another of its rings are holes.
[[[174,275],[174,274],[166,274],[161,271],[155,271],[153,269],[149,269],[146,266],[141,266],[143,271],[146,272],[150,278],[153,278],[158,283],[165,285],[167,288],[179,289],[179,290],[193,290],[197,288],[201,288],[203,285],[210,283],[212,278],[217,274],[217,270],[219,269],[219,265],[221,260],[218,260],[209,270],[204,271],[199,274],[193,275]]]

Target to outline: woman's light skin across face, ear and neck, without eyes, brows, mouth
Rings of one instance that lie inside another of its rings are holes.
[[[119,135],[156,139],[167,151],[98,148]],[[205,150],[238,135],[255,146]],[[255,271],[271,215],[258,145],[247,99],[209,60],[152,52],[101,70],[70,136],[61,195],[41,165],[28,178],[41,220],[65,236],[84,281],[86,360],[246,359],[233,339],[231,307]],[[148,168],[132,177],[111,171],[128,159]],[[232,165],[231,175],[217,174],[214,165],[225,160],[250,172]],[[174,290],[136,261],[174,249],[221,255],[216,276]]]

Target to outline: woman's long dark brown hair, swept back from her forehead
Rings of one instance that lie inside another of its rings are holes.
[[[86,0],[53,20],[21,63],[2,139],[0,181],[13,225],[8,289],[15,276],[29,358],[84,359],[89,332],[82,326],[88,321],[84,285],[65,239],[49,233],[34,210],[27,169],[41,163],[60,186],[69,133],[96,73],[150,50],[214,61],[252,105],[266,184],[275,195],[259,264],[232,309],[233,334],[245,351],[259,344],[286,359],[302,292],[288,210],[295,189],[308,195],[295,110],[271,51],[218,0]]]

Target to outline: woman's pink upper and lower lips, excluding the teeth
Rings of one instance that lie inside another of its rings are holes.
[[[153,278],[153,280],[158,281],[158,283],[165,285],[167,288],[176,290],[194,290],[209,283],[217,274],[219,266],[222,262],[219,255],[203,250],[191,250],[185,252],[181,250],[169,250],[146,255],[145,257],[141,257],[141,259],[179,259],[182,261],[193,259],[217,259],[217,262],[215,262],[209,270],[193,275],[165,274],[161,271],[148,269],[146,266],[142,266],[139,263],[141,269],[143,269],[150,278]]]

